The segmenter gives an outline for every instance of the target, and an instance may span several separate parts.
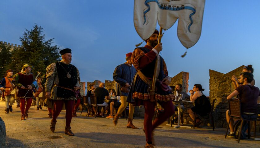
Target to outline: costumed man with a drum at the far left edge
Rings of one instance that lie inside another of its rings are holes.
[[[14,84],[12,83],[13,80],[13,70],[9,69],[6,71],[6,76],[2,78],[2,80],[0,81],[0,89],[1,91],[4,93],[4,97],[6,99],[5,103],[6,103],[6,112],[5,113],[9,113],[13,111],[12,105],[15,102],[15,98],[14,96],[12,96],[10,94],[12,88],[14,88]]]

